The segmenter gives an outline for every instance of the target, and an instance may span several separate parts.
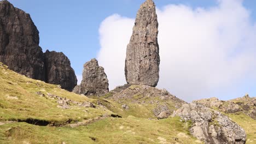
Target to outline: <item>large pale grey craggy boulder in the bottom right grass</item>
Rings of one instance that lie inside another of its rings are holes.
[[[246,132],[229,117],[200,104],[185,104],[173,113],[184,121],[191,121],[190,133],[210,144],[246,142]]]

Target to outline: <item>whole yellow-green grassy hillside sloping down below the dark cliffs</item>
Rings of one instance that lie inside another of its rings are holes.
[[[60,99],[71,102],[65,108]],[[179,117],[158,120],[151,107],[130,101],[125,111],[118,102],[67,92],[0,64],[0,143],[201,143]]]

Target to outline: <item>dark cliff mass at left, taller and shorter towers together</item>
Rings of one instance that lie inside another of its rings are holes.
[[[8,1],[0,2],[0,62],[32,79],[61,85],[72,91],[77,78],[63,53],[39,46],[39,32],[29,14]]]

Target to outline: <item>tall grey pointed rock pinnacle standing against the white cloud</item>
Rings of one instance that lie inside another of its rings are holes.
[[[158,17],[155,4],[147,0],[138,10],[130,44],[127,45],[127,83],[155,87],[159,81]]]

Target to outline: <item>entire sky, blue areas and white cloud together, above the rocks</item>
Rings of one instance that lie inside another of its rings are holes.
[[[124,59],[144,0],[10,0],[32,17],[43,51],[63,52],[80,81],[97,58],[109,88],[124,85]],[[158,88],[185,101],[256,95],[256,1],[155,0]]]

